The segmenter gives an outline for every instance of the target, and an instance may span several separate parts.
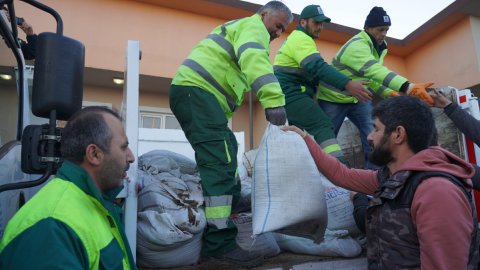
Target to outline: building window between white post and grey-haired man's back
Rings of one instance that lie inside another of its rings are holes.
[[[181,129],[177,118],[168,109],[140,107],[140,127],[157,129]]]

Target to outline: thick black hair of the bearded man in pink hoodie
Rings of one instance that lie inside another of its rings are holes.
[[[432,110],[416,97],[400,96],[381,101],[372,111],[385,125],[385,135],[388,136],[398,126],[405,128],[410,149],[420,152],[428,148],[434,137],[435,120]]]

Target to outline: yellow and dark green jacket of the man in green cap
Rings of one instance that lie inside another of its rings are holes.
[[[301,30],[294,30],[278,50],[274,61],[277,76],[287,101],[301,95],[314,97],[319,80],[343,89],[350,80],[327,64],[315,41]]]

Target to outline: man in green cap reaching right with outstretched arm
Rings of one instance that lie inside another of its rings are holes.
[[[330,22],[330,18],[320,6],[305,7],[297,29],[288,36],[275,57],[274,72],[285,94],[289,124],[305,129],[325,152],[345,163],[330,118],[314,100],[317,85],[319,81],[327,82],[362,101],[370,100],[371,96],[363,82],[338,72],[318,52],[314,39],[320,36],[325,22]]]

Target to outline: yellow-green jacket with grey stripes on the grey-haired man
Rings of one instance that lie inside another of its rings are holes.
[[[172,84],[200,87],[217,98],[227,118],[249,90],[264,108],[285,105],[269,58],[270,35],[260,15],[215,28],[179,67]]]

